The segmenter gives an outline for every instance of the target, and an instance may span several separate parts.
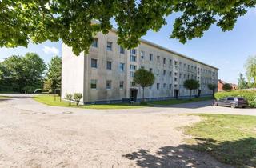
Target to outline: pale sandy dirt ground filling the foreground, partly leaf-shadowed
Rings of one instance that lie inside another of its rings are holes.
[[[0,100],[0,167],[229,167],[184,148],[187,137],[178,128],[200,118],[158,110],[75,110],[26,97]]]

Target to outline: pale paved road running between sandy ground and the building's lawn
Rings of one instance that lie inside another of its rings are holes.
[[[31,110],[42,113],[58,114],[63,112],[72,112],[73,114],[102,114],[108,112],[113,113],[126,113],[141,114],[141,113],[167,113],[167,114],[241,114],[241,115],[256,115],[256,109],[232,109],[230,107],[212,106],[211,101],[191,102],[185,104],[178,104],[168,107],[145,107],[141,109],[123,109],[123,110],[94,110],[94,109],[77,109],[70,107],[56,107],[46,106],[42,103],[35,102],[31,97],[34,94],[0,94],[8,95],[12,98],[8,101],[12,106],[20,110]]]

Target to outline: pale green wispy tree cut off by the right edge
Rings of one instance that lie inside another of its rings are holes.
[[[251,86],[256,86],[256,56],[247,58],[244,66],[248,82],[252,82]]]

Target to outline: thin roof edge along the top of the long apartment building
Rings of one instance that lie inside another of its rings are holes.
[[[114,33],[116,33],[118,30],[112,28],[112,31],[114,31]],[[165,50],[165,51],[167,51],[167,52],[169,52],[169,53],[171,53],[171,54],[177,54],[178,56],[180,56],[180,57],[182,57],[182,58],[190,59],[191,61],[198,62],[198,63],[200,63],[200,64],[202,64],[202,65],[205,65],[205,66],[210,66],[209,64],[206,64],[206,63],[204,63],[204,62],[200,62],[200,61],[198,61],[198,60],[196,60],[196,59],[194,59],[194,58],[190,58],[190,57],[186,56],[185,54],[180,54],[180,53],[178,53],[178,52],[176,52],[176,51],[174,51],[174,50],[170,50],[170,49],[168,49],[168,48],[166,48],[166,47],[164,47],[164,46],[160,46],[160,45],[158,45],[158,44],[156,44],[156,43],[154,43],[154,42],[150,42],[150,41],[147,41],[147,40],[142,39],[142,38],[140,38],[139,40],[140,40],[140,42],[144,42],[144,43],[146,43],[146,44],[148,44],[148,45],[150,45],[150,46],[157,47],[157,48],[160,49],[160,50]],[[215,66],[210,66],[210,67],[211,67],[211,68],[214,68],[214,69],[216,69],[216,70],[218,70],[218,68],[215,67]]]

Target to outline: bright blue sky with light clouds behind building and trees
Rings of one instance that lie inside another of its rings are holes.
[[[211,26],[202,38],[194,38],[186,44],[169,38],[175,17],[177,15],[174,14],[166,18],[166,26],[162,26],[158,32],[150,30],[142,38],[216,66],[219,68],[218,78],[237,83],[238,74],[244,73],[246,58],[256,55],[256,10],[251,9],[245,16],[238,18],[232,31],[222,32],[217,26]],[[0,48],[0,62],[12,54],[23,55],[26,52],[37,53],[45,62],[49,62],[54,55],[61,55],[61,47],[61,42],[44,42],[30,44],[27,48]]]

